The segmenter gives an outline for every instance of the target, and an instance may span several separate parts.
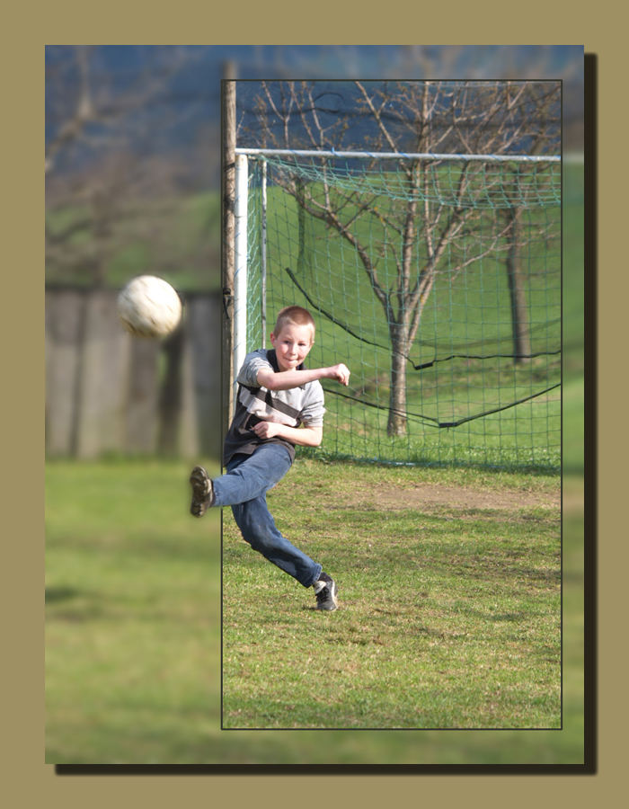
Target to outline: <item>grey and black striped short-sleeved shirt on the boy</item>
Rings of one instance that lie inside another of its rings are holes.
[[[279,443],[287,447],[290,457],[295,458],[295,445],[284,438],[273,436],[260,439],[252,431],[258,422],[278,422],[288,427],[322,427],[323,387],[318,380],[306,382],[300,387],[288,390],[270,391],[261,387],[257,375],[261,368],[279,371],[275,350],[258,349],[244,358],[243,367],[238,372],[236,382],[235,414],[225,439],[223,463],[227,464],[235,454],[251,455],[263,443]],[[299,366],[303,370],[304,365]]]

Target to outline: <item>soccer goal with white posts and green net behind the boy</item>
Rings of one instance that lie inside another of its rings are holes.
[[[559,468],[559,157],[236,153],[235,366],[309,308],[323,453]]]

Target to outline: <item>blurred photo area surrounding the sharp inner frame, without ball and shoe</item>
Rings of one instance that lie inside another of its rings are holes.
[[[190,527],[186,480],[189,458],[218,468],[222,442],[227,74],[562,79],[564,156],[582,164],[580,46],[47,47],[46,760],[582,760],[582,171],[563,188],[563,731],[220,732],[220,526]],[[115,313],[145,272],[183,299],[164,342],[131,339]]]

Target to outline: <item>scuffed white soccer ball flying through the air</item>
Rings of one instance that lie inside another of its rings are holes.
[[[118,314],[136,337],[165,337],[182,319],[182,301],[168,281],[138,275],[120,292]]]

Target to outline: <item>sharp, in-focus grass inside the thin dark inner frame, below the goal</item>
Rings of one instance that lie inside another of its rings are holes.
[[[463,477],[304,461],[270,493],[334,615],[226,520],[226,727],[560,725],[558,482]]]

